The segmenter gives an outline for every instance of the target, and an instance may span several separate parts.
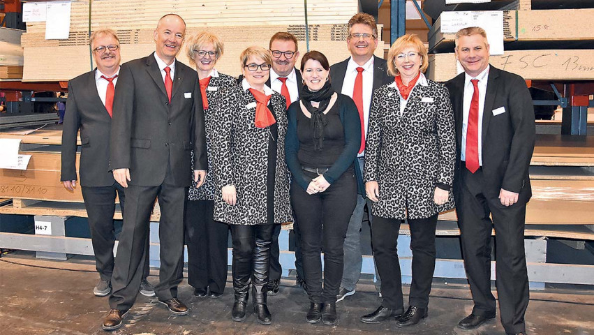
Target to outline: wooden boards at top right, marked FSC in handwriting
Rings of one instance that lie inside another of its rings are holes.
[[[594,1],[493,0],[493,3],[501,3],[499,9],[504,10],[505,43],[505,53],[490,58],[493,66],[517,73],[526,80],[594,79],[594,30],[591,29]],[[467,4],[463,9],[482,10],[482,6]],[[429,57],[431,80],[445,82],[457,74],[454,34],[441,33],[440,19],[429,31],[429,52],[436,53]]]

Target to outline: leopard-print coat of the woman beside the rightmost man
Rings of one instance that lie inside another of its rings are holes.
[[[428,218],[454,208],[433,202],[436,184],[452,186],[454,112],[443,84],[419,77],[401,115],[396,83],[375,91],[369,114],[364,181],[378,181],[372,212],[385,218]]]

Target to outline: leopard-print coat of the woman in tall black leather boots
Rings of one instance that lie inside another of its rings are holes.
[[[292,221],[289,172],[285,162],[287,115],[285,98],[274,93],[272,112],[279,127],[274,184],[274,223]],[[256,128],[255,98],[242,87],[225,87],[213,103],[212,167],[216,178],[214,220],[237,225],[267,223],[269,129]],[[235,185],[237,203],[226,204],[221,188]]]

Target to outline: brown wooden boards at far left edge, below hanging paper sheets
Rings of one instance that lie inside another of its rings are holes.
[[[20,79],[23,73],[21,35],[24,31],[0,27],[0,79]]]

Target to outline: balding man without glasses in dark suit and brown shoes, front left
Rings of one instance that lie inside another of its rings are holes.
[[[121,327],[132,307],[144,262],[151,209],[161,209],[161,269],[155,293],[175,315],[188,314],[177,299],[184,267],[184,198],[194,180],[206,176],[207,156],[198,74],[175,59],[184,42],[186,24],[178,15],[161,17],[154,31],[156,51],[121,66],[110,136],[114,179],[126,188],[126,212],[114,273],[109,315],[103,329]]]

